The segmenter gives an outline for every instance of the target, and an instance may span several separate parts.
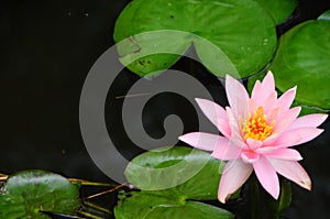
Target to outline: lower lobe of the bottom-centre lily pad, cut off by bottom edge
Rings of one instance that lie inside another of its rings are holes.
[[[121,196],[114,208],[117,219],[231,219],[233,215],[221,208],[193,200],[179,200],[175,197],[155,196],[146,191],[130,193]]]

